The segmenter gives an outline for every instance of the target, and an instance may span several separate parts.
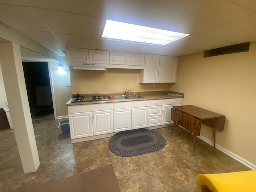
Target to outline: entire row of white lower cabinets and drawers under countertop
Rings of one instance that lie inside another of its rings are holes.
[[[71,139],[171,124],[182,98],[68,106]]]

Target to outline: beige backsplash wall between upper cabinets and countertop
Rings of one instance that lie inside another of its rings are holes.
[[[139,83],[138,69],[107,69],[106,72],[70,70],[72,94],[119,93],[125,89],[132,92],[169,90],[172,83]]]

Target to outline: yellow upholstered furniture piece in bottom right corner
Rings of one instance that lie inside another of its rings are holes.
[[[198,192],[256,192],[256,170],[220,174],[199,174]]]

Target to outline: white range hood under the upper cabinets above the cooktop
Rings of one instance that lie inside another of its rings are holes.
[[[77,70],[106,71],[106,64],[70,62],[70,66]]]

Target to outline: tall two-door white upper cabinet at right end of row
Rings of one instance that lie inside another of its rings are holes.
[[[178,57],[145,55],[144,70],[140,72],[140,83],[175,83]]]

